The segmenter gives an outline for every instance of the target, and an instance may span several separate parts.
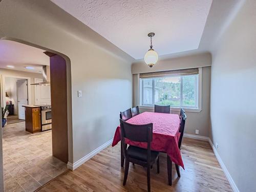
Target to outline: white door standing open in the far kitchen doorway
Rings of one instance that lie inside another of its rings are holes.
[[[27,79],[17,80],[18,118],[25,120],[25,108],[22,105],[28,104],[28,81]]]

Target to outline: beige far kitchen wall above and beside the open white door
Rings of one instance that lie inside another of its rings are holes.
[[[24,71],[8,70],[8,69],[1,69],[1,68],[0,68],[0,75],[1,75],[1,78],[8,77],[8,76],[30,77],[31,83],[34,83],[34,78],[42,78],[42,74],[40,74],[40,73],[29,73],[29,72],[24,72]],[[4,97],[3,101],[5,102],[5,97]],[[35,88],[34,88],[34,86],[31,86],[31,104],[35,104]]]

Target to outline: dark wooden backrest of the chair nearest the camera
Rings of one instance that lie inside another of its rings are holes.
[[[125,138],[131,141],[147,143],[147,161],[151,157],[151,141],[153,137],[153,123],[134,125],[120,119],[122,150],[125,158],[126,155]]]

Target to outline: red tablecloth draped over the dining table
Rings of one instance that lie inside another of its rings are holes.
[[[176,114],[144,112],[126,122],[132,124],[153,123],[153,141],[151,149],[153,151],[165,152],[170,159],[182,166],[184,164],[178,147],[180,118]],[[115,146],[121,140],[120,126],[117,127],[112,146]],[[143,142],[125,141],[127,144],[146,148],[147,144]]]

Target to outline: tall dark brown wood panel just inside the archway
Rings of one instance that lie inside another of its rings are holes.
[[[66,60],[48,51],[44,53],[50,57],[52,154],[67,163],[69,158]]]

